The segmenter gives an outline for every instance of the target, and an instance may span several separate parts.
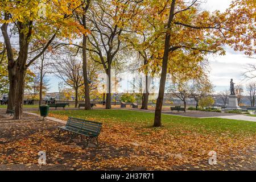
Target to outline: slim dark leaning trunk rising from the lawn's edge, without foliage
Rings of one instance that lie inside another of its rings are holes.
[[[162,106],[163,106],[164,89],[166,88],[167,63],[168,63],[169,47],[170,47],[170,40],[171,40],[170,29],[171,29],[171,22],[174,19],[174,7],[175,7],[175,0],[172,0],[169,20],[167,25],[166,40],[164,43],[164,56],[163,56],[162,73],[161,73],[160,85],[159,85],[159,93],[158,93],[158,99],[156,100],[156,107],[155,107],[155,119],[154,119],[155,127],[162,126],[161,113],[162,113]]]

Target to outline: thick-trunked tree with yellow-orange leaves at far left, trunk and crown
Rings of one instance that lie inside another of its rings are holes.
[[[49,48],[57,37],[71,38],[81,27],[71,18],[81,1],[0,1],[0,23],[8,58],[9,103],[15,109],[14,119],[22,118],[24,78],[26,70]],[[53,13],[54,12],[54,13]],[[18,35],[18,56],[10,38],[10,30]],[[15,107],[14,107],[15,105]]]

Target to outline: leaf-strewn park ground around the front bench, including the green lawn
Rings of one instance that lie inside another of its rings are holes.
[[[25,115],[21,121],[0,116],[0,169],[155,169],[255,170],[256,123],[220,118],[163,115],[164,127],[153,128],[154,114],[129,110],[51,111],[103,122],[99,146],[67,134],[57,138],[61,123]],[[39,166],[38,152],[46,151],[47,165]],[[209,151],[217,165],[208,164]]]

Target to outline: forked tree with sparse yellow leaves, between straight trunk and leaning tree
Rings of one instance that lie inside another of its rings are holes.
[[[128,26],[127,19],[134,14],[137,1],[106,1],[94,2],[88,11],[88,51],[98,57],[108,76],[106,93],[106,109],[111,108],[111,69],[115,56],[127,47],[123,43],[122,35]]]

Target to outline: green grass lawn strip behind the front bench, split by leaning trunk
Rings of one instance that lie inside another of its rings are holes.
[[[139,123],[144,127],[151,127],[154,121],[154,113],[130,110],[61,110],[50,111],[50,113],[94,121]],[[231,119],[188,118],[163,114],[162,123],[164,127],[175,132],[180,129],[214,134],[255,135],[256,133],[256,122]]]

